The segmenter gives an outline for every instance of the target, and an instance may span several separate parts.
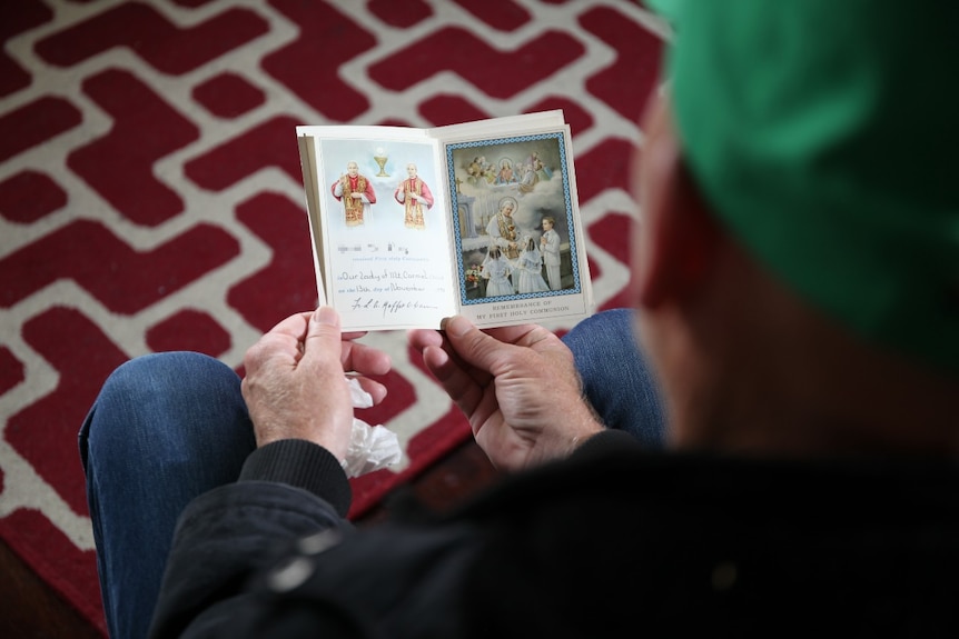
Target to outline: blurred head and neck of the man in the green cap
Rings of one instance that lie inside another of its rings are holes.
[[[920,4],[676,3],[668,97],[644,122],[634,281],[680,442],[949,439],[957,10]]]

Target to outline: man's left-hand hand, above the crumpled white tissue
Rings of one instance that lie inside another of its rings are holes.
[[[288,317],[263,336],[244,357],[243,396],[257,446],[280,439],[314,441],[338,459],[346,457],[353,402],[346,372],[379,403],[386,388],[365,376],[389,372],[389,356],[343,333],[329,307]]]

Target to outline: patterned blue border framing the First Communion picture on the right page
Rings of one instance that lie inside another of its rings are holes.
[[[562,289],[558,291],[542,291],[536,293],[518,293],[513,296],[497,296],[495,298],[478,298],[468,299],[466,297],[466,277],[463,269],[463,240],[459,232],[459,202],[458,193],[456,192],[456,171],[453,163],[453,151],[458,149],[468,149],[475,147],[493,147],[495,144],[508,144],[512,142],[530,142],[535,140],[556,140],[556,146],[560,149],[560,167],[563,177],[563,199],[566,209],[566,228],[570,236],[570,259],[573,266],[573,288]],[[582,293],[582,284],[580,281],[580,259],[576,246],[577,229],[573,223],[573,202],[570,196],[570,172],[566,159],[566,134],[564,131],[554,133],[540,133],[535,136],[516,136],[513,138],[496,138],[491,140],[475,140],[471,142],[452,142],[446,144],[446,170],[448,172],[449,184],[449,201],[453,210],[453,233],[456,240],[456,273],[459,283],[459,303],[463,306],[491,303],[496,301],[523,300],[531,298],[557,297],[566,294]]]

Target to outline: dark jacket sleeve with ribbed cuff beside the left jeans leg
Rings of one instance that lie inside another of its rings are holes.
[[[245,606],[245,583],[276,549],[326,529],[347,531],[346,473],[326,449],[284,440],[257,449],[239,481],[194,499],[180,516],[151,637],[215,636]]]

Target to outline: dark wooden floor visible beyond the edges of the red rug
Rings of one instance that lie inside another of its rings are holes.
[[[406,488],[426,506],[444,509],[488,485],[495,477],[496,471],[486,456],[468,440]],[[387,515],[386,508],[376,508],[357,525],[375,526]],[[101,639],[102,635],[52,593],[0,541],[0,637]]]

